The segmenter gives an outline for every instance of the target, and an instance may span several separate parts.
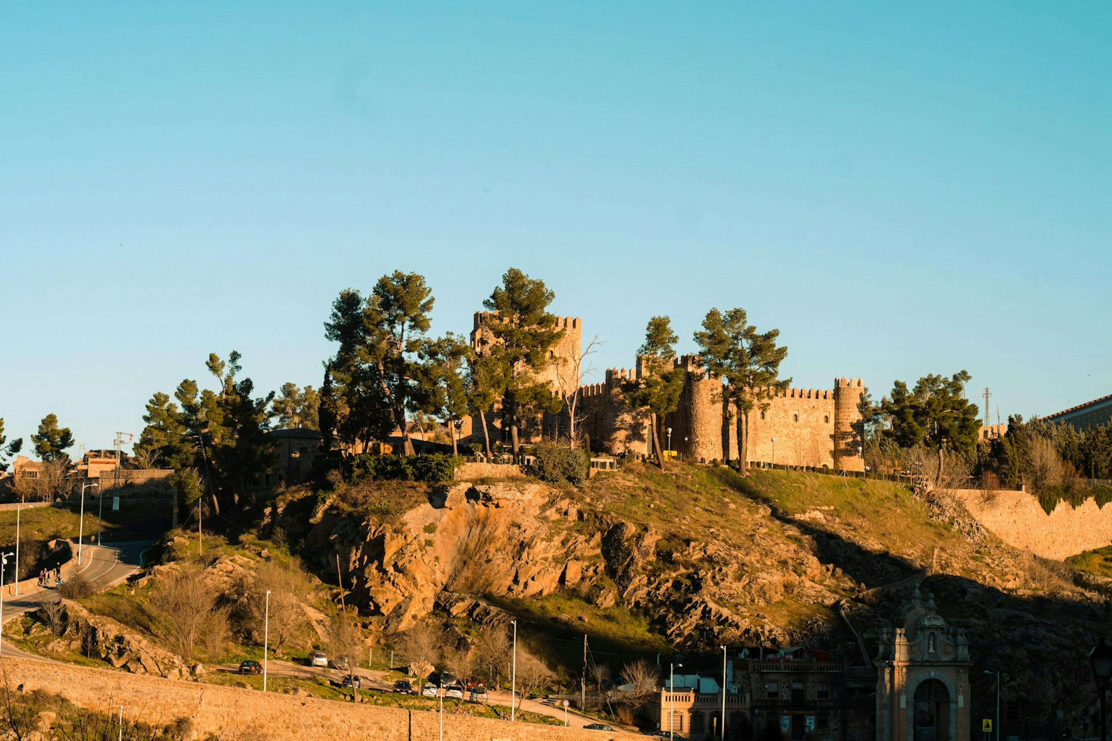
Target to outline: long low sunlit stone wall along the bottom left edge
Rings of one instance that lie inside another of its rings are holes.
[[[185,682],[56,661],[0,659],[10,688],[43,690],[111,714],[166,724],[192,721],[195,738],[254,728],[269,741],[439,741],[439,713],[353,705],[258,690]],[[510,723],[445,713],[444,738],[453,741],[608,741],[627,733],[600,733],[535,723]]]

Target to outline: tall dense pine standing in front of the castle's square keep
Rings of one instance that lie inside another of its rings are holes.
[[[486,324],[492,341],[480,352],[493,360],[490,375],[498,379],[496,394],[502,397],[503,423],[509,428],[515,455],[522,420],[543,411],[558,412],[563,405],[549,385],[536,378],[548,361],[549,349],[564,337],[556,317],[548,313],[555,298],[544,281],[510,268],[502,277],[502,286],[483,301],[495,316]]]

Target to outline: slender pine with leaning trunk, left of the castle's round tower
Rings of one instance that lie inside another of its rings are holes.
[[[648,412],[649,435],[657,465],[664,468],[664,452],[661,450],[661,425],[664,415],[679,405],[679,394],[684,390],[684,369],[675,368],[675,346],[679,338],[672,331],[672,320],[653,317],[645,328],[645,341],[637,350],[642,359],[642,377],[631,379],[623,385],[626,404],[632,409]]]

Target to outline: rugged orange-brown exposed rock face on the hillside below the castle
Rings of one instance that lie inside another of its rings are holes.
[[[739,507],[746,511],[738,517],[771,514]],[[572,589],[598,608],[658,615],[658,628],[677,642],[787,643],[791,631],[754,611],[786,595],[830,605],[855,588],[805,542],[784,540],[771,520],[775,531],[763,527],[744,551],[713,531],[665,542],[651,525],[587,510],[536,483],[454,484],[393,523],[360,522],[327,504],[308,523],[281,511],[270,520],[304,535],[321,567],[335,569],[339,554],[348,600],[383,615],[386,630],[413,627],[438,601],[451,615],[504,619],[481,600],[445,595],[536,598]]]

